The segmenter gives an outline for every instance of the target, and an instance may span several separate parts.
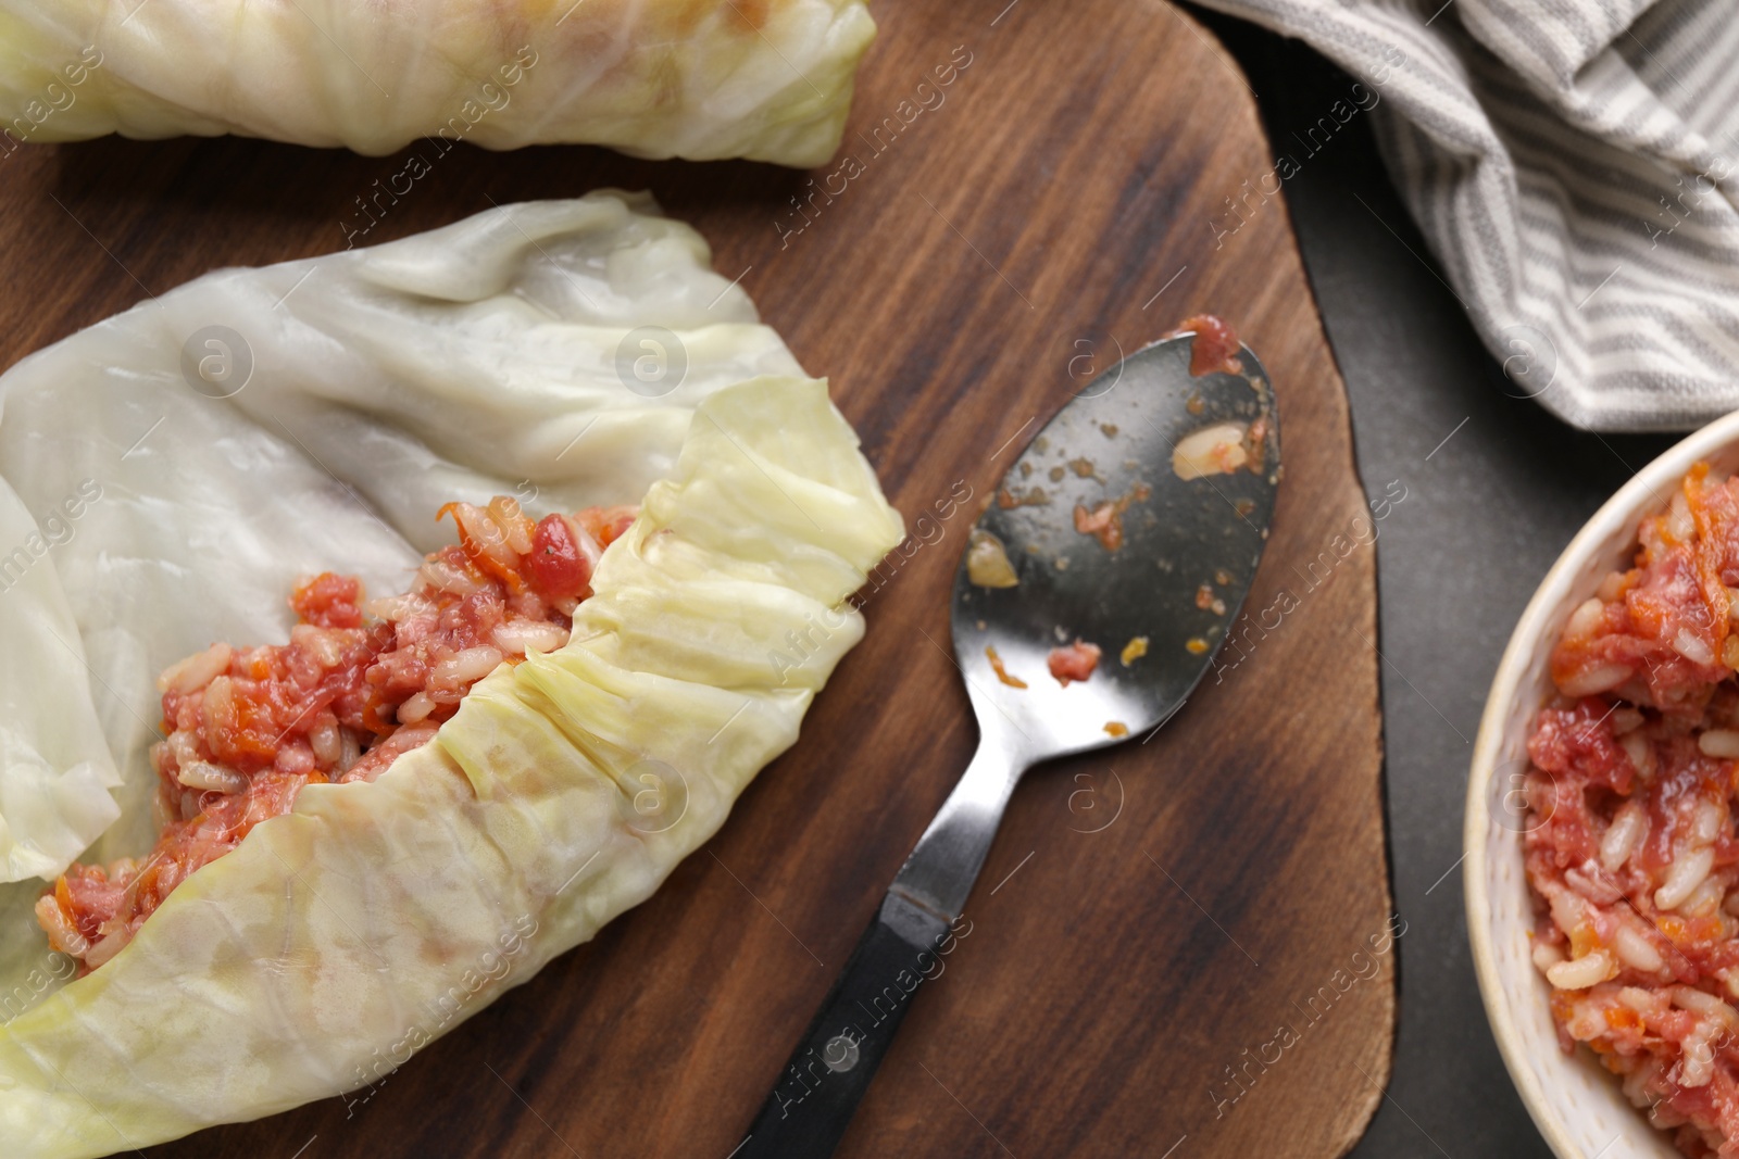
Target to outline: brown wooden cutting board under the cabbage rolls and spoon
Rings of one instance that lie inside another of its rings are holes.
[[[1029,775],[842,1156],[1332,1157],[1358,1136],[1395,1013],[1376,561],[1275,155],[1176,9],[1003,3],[878,5],[845,149],[814,174],[461,148],[407,182],[409,153],[233,139],[0,160],[5,365],[207,269],[341,248],[346,226],[372,243],[650,188],[831,375],[923,535],[798,745],[650,902],[367,1102],[153,1157],[725,1159],[972,752],[932,641],[977,506],[1082,375],[1203,309],[1271,370],[1285,434],[1243,652],[1149,740]],[[370,226],[358,198],[407,186]]]

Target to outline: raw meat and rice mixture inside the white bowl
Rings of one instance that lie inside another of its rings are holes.
[[[1534,963],[1687,1156],[1739,1157],[1739,480],[1697,466],[1570,615],[1529,740]]]

